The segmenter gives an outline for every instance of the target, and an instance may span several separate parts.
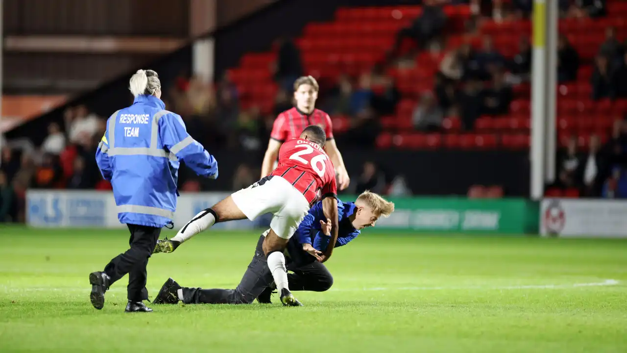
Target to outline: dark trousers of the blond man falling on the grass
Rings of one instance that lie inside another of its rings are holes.
[[[266,256],[257,242],[255,256],[234,290],[183,287],[183,302],[186,304],[250,304],[273,282]],[[290,245],[291,244],[291,245]],[[296,239],[288,243],[287,260],[290,290],[325,291],[333,285],[333,276],[324,264],[302,250]]]

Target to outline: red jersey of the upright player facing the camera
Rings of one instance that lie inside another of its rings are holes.
[[[320,126],[327,134],[327,140],[333,139],[333,124],[329,114],[320,109],[314,109],[309,115],[302,114],[295,107],[278,114],[272,126],[270,138],[279,142],[297,139],[300,133],[310,125]]]

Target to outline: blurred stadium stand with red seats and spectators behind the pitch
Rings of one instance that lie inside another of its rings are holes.
[[[361,148],[360,143],[366,141],[366,148],[421,158],[422,163],[441,162],[438,176],[407,179],[414,193],[451,193],[455,188],[455,193],[467,192],[471,197],[525,195],[530,144],[529,13],[522,9],[522,14],[514,11],[503,18],[501,9],[492,9],[492,14],[477,11],[475,1],[451,3],[441,8],[446,18],[443,28],[431,23],[435,27],[428,40],[414,36],[419,45],[408,29],[421,20],[423,6],[348,6],[337,8],[330,21],[305,24],[297,38],[283,38],[265,52],[246,53],[213,84],[186,75],[177,77],[176,65],[163,71],[157,68],[164,82],[172,82],[166,103],[181,113],[205,146],[213,150],[238,146],[250,159],[225,172],[236,178],[228,185],[219,184],[219,190],[239,188],[255,179],[253,161],[260,160],[257,154],[267,141],[268,128],[277,112],[290,107],[290,80],[310,74],[319,79],[318,106],[332,115],[339,142]],[[502,3],[514,6],[517,1]],[[558,177],[547,195],[627,197],[627,177],[622,168],[616,168],[623,163],[623,144],[627,146],[623,121],[627,112],[627,3],[600,3],[603,11],[587,9],[590,16],[583,9],[566,8],[559,21],[562,38],[555,89],[561,151]],[[181,63],[190,58],[190,50],[176,54]],[[103,110],[111,100],[127,100],[124,89],[104,87],[102,92],[88,94],[87,106]],[[57,114],[57,126],[50,124],[50,134],[43,139],[41,151],[46,155],[15,155],[3,149],[0,180],[4,181],[0,184],[12,189],[15,204],[23,202],[28,187],[110,188],[93,165],[93,149],[105,119],[102,113],[94,113],[76,104]],[[21,131],[44,136],[43,126]],[[14,141],[16,134],[11,138]],[[436,150],[438,157],[430,154]],[[455,159],[445,151],[485,155]],[[516,159],[503,158],[506,153]],[[451,159],[443,162],[447,156]],[[492,166],[498,156],[499,163],[511,164]],[[354,172],[368,163],[364,158],[355,156]],[[391,166],[382,163],[384,159],[379,157],[376,163],[392,176],[384,177],[381,192],[403,190],[395,187],[404,183],[399,174],[413,171],[389,171]],[[460,182],[456,167],[477,173]],[[508,168],[512,171],[503,171]],[[181,190],[207,190],[198,180],[184,176],[181,180]],[[381,178],[375,180],[379,183]],[[503,180],[508,185],[497,185]]]

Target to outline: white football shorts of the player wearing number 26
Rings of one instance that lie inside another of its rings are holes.
[[[309,212],[309,203],[290,182],[280,176],[263,178],[231,197],[237,207],[250,220],[263,214],[274,215],[270,229],[283,239],[290,239],[303,217]]]

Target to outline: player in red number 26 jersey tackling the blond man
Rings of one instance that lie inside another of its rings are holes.
[[[278,166],[248,188],[234,192],[213,207],[201,211],[172,239],[160,240],[154,253],[171,253],[182,242],[208,229],[216,222],[255,220],[272,213],[270,232],[263,241],[268,268],[287,306],[302,305],[290,292],[283,251],[287,242],[307,215],[311,205],[322,198],[322,210],[331,222],[331,239],[319,261],[330,258],[337,241],[337,184],[335,170],[324,152],[326,134],[316,125],[307,126],[299,138],[283,143]]]

